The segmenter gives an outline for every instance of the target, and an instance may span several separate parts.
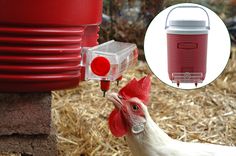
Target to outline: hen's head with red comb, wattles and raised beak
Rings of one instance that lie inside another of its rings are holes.
[[[114,136],[122,137],[129,132],[138,134],[144,130],[150,87],[150,76],[146,76],[139,81],[131,80],[118,94],[108,94],[115,105],[109,116],[109,128]]]

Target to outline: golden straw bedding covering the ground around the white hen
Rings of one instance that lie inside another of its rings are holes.
[[[117,87],[133,77],[150,73],[146,63],[129,70]],[[102,97],[99,83],[82,82],[78,88],[53,92],[53,121],[61,156],[128,156],[123,138],[115,138],[107,126],[113,105]],[[149,111],[171,137],[183,141],[236,145],[236,62],[205,88],[192,91],[166,86],[152,77]]]

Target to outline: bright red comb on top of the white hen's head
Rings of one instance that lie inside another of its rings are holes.
[[[134,78],[119,91],[119,95],[121,95],[124,99],[137,97],[143,103],[147,104],[149,101],[150,88],[151,78],[149,75],[143,77],[139,81]]]

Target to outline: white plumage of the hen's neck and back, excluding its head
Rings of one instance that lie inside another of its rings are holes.
[[[134,156],[236,156],[236,147],[187,143],[170,138],[150,117],[146,117],[142,133],[127,135],[127,142]]]

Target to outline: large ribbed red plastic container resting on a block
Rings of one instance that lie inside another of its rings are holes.
[[[0,92],[77,86],[101,15],[102,0],[0,0]]]

